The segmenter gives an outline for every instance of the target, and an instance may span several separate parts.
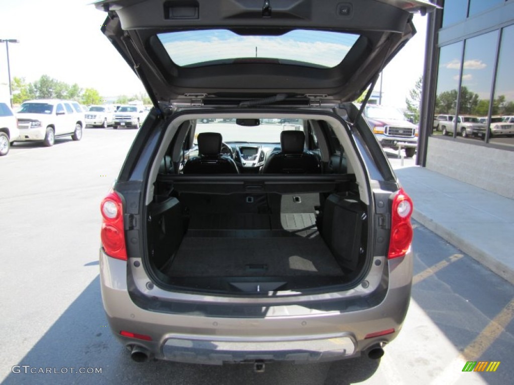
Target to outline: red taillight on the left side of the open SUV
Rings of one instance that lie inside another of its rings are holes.
[[[100,205],[102,230],[100,238],[109,257],[127,260],[123,228],[123,204],[116,192],[109,192]]]

